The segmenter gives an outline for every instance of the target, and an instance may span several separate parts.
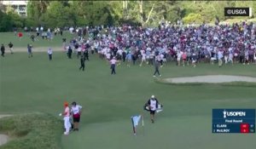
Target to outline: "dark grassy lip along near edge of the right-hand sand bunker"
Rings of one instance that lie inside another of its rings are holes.
[[[163,83],[169,85],[178,85],[178,86],[201,86],[201,85],[220,85],[220,86],[234,86],[234,87],[253,87],[256,88],[256,83],[249,83],[249,82],[230,82],[230,83],[172,83],[166,81],[165,78],[155,78],[155,83]]]

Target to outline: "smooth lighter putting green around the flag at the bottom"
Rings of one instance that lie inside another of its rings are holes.
[[[155,123],[145,121],[139,126],[137,136],[131,131],[127,120],[94,123],[83,126],[79,132],[62,136],[64,149],[68,148],[189,148],[189,149],[240,149],[256,146],[255,135],[212,134],[211,117],[168,117],[159,118]],[[144,130],[143,130],[144,129]],[[143,132],[144,131],[144,132]],[[236,140],[236,141],[234,141]],[[250,143],[249,143],[250,142]]]

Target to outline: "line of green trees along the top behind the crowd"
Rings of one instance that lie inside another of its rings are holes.
[[[227,20],[225,7],[252,7],[256,1],[29,1],[27,16],[0,5],[0,32],[25,26],[158,26],[162,20],[175,24],[214,23]],[[254,17],[254,16],[253,16]],[[245,18],[247,19],[247,18]]]

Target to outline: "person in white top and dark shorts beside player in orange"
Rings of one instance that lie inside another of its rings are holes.
[[[71,113],[73,114],[73,130],[79,131],[79,122],[80,122],[80,116],[82,113],[82,106],[77,105],[75,101],[73,101],[71,106]]]

